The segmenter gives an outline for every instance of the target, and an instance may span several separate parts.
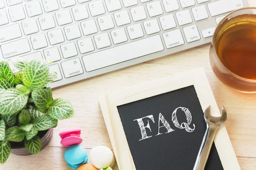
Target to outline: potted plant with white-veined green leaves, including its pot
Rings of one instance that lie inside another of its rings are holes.
[[[58,120],[74,115],[67,99],[52,99],[47,88],[56,78],[45,60],[12,60],[21,72],[12,73],[8,62],[0,62],[0,163],[10,153],[38,154],[49,143]],[[27,153],[26,153],[27,152]]]

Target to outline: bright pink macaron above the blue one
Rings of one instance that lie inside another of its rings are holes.
[[[83,139],[81,139],[80,134],[81,129],[79,128],[62,131],[59,134],[59,136],[61,136],[61,144],[66,147],[69,147],[72,144],[81,144]]]

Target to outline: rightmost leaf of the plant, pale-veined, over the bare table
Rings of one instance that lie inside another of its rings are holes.
[[[55,99],[49,107],[48,114],[54,119],[69,119],[74,116],[74,110],[67,99]]]

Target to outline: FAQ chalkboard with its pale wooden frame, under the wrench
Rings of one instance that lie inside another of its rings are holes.
[[[119,170],[192,170],[206,130],[203,111],[211,105],[220,116],[203,68],[103,94],[99,104]],[[206,170],[241,170],[224,125]]]

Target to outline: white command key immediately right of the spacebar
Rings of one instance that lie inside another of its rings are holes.
[[[177,47],[185,43],[180,29],[163,33],[163,40],[166,43],[166,48]]]

